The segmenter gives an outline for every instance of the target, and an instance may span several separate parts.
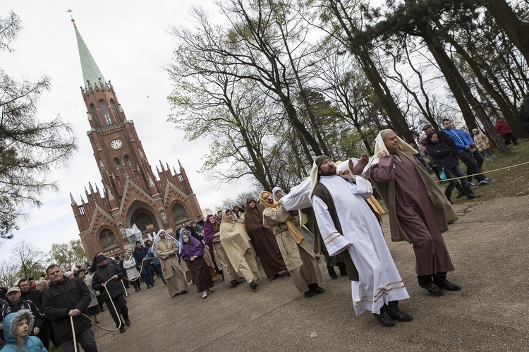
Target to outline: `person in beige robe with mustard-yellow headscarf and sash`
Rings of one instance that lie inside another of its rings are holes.
[[[265,207],[262,213],[263,225],[274,232],[286,269],[296,289],[306,297],[312,297],[314,293],[324,293],[324,289],[320,287],[322,272],[314,250],[298,227],[298,221],[283,207],[281,201],[276,202],[272,198],[272,193],[261,192],[259,200]]]

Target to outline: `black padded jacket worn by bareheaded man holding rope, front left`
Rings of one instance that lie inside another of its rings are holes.
[[[87,307],[90,305],[90,291],[84,281],[77,277],[68,279],[66,276],[59,284],[51,283],[42,294],[42,310],[51,321],[57,343],[72,338],[72,328],[68,312],[77,308],[88,315]],[[92,327],[87,317],[79,315],[73,317],[75,333],[79,334]]]

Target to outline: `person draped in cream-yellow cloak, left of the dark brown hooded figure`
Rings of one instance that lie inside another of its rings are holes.
[[[250,246],[250,238],[244,226],[229,209],[224,210],[220,226],[220,238],[226,255],[236,272],[241,272],[250,287],[255,290],[255,280],[261,279],[257,262]]]

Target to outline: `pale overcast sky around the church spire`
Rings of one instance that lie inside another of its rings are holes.
[[[51,90],[42,95],[37,118],[49,120],[60,115],[72,124],[79,147],[67,165],[49,176],[59,181],[59,192],[42,195],[42,207],[27,209],[29,220],[20,222],[15,237],[0,246],[2,259],[22,239],[45,253],[52,243],[78,239],[70,193],[80,204],[89,181],[99,190],[103,188],[86,134],[90,125],[80,92],[83,74],[69,8],[97,66],[104,78],[111,80],[127,119],[134,121],[152,167],[162,160],[178,169],[179,159],[202,209],[214,209],[222,200],[250,189],[248,181],[214,187],[204,174],[198,174],[200,157],[207,153],[211,140],[188,142],[184,133],[167,121],[171,109],[166,97],[173,87],[163,67],[176,47],[168,30],[171,25],[190,25],[192,4],[214,11],[210,0],[0,1],[0,16],[4,18],[13,10],[23,25],[11,44],[16,53],[1,53],[0,67],[17,80],[49,75]]]

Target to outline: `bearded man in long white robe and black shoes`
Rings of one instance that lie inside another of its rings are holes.
[[[367,156],[366,156],[367,157]],[[369,181],[360,176],[348,181],[336,175],[336,165],[322,155],[312,166],[310,198],[329,255],[347,251],[355,272],[351,281],[356,315],[372,312],[380,324],[413,317],[399,310],[399,300],[409,298],[389,253],[384,234],[365,199],[372,195]]]

